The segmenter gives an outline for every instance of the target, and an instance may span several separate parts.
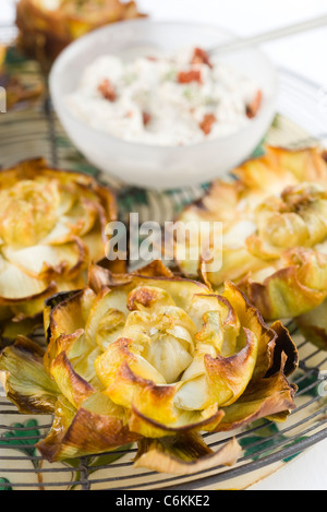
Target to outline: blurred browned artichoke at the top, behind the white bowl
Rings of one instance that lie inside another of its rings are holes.
[[[134,1],[20,0],[19,45],[45,69],[74,39],[109,23],[143,16]]]

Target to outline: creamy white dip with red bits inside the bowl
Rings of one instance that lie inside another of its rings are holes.
[[[191,48],[132,61],[101,56],[66,99],[76,118],[112,136],[177,146],[246,127],[261,108],[262,92],[250,78]]]

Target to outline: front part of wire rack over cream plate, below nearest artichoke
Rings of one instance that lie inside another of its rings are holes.
[[[17,410],[0,398],[0,488],[5,489],[112,489],[112,490],[198,490],[219,488],[240,478],[246,484],[251,474],[276,463],[288,462],[327,437],[327,400],[325,382],[327,353],[317,349],[289,330],[298,340],[300,368],[294,378],[299,386],[296,408],[289,420],[277,428],[263,420],[246,430],[232,432],[243,448],[238,464],[231,468],[216,467],[192,475],[175,477],[155,472],[134,469],[135,446],[120,449],[96,457],[82,457],[72,464],[49,465],[37,455],[35,444],[46,434],[51,420],[47,416],[36,425],[35,419],[17,422]],[[2,425],[4,419],[5,425]],[[19,421],[22,421],[20,416]],[[204,434],[207,444],[218,449],[228,437]],[[108,464],[109,460],[112,462]],[[14,481],[11,476],[14,475]]]

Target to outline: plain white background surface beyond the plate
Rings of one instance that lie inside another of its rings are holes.
[[[159,20],[217,24],[240,36],[259,34],[327,14],[326,0],[138,0],[140,9]],[[0,0],[0,25],[14,19],[14,1]],[[264,45],[277,66],[327,85],[327,27]],[[327,441],[254,490],[327,490]]]

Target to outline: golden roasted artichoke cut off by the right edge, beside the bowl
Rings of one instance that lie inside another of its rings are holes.
[[[325,158],[319,148],[267,147],[264,156],[233,171],[235,180],[215,182],[179,221],[222,223],[217,249],[222,265],[210,271],[215,254],[209,235],[203,247],[190,237],[186,243],[192,240],[197,254],[192,261],[179,259],[181,247],[175,242],[182,273],[202,275],[218,291],[231,279],[266,321],[294,318],[319,306],[327,297]]]

